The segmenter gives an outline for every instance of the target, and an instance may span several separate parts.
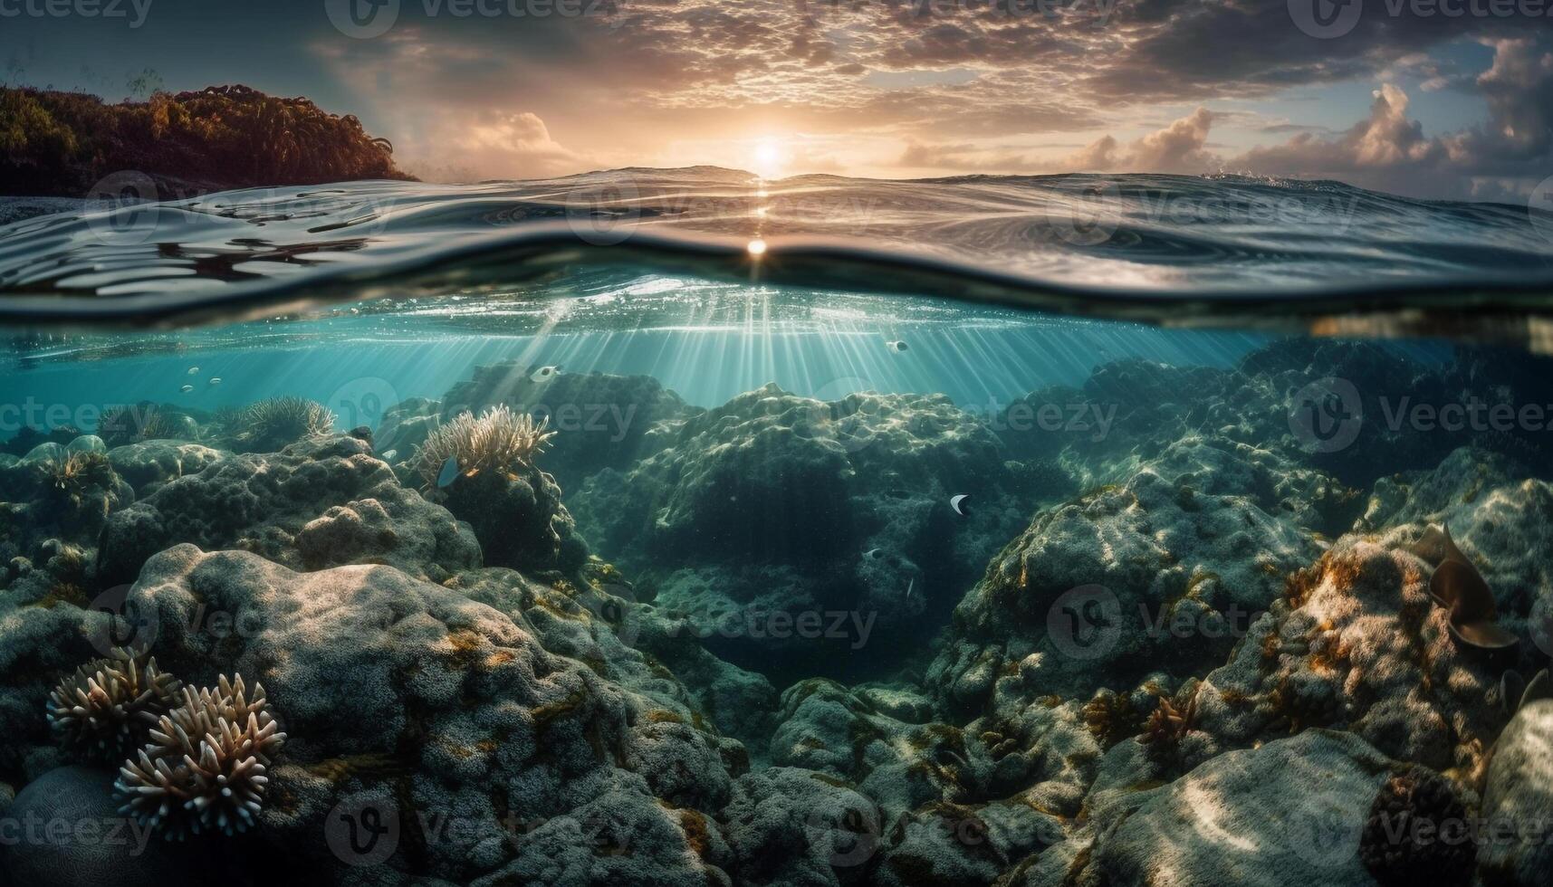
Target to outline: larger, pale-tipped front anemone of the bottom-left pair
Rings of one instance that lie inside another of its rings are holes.
[[[138,757],[120,767],[120,812],[179,840],[245,831],[258,822],[266,772],[284,743],[262,685],[253,687],[252,701],[242,676],[221,676],[216,690],[183,688],[183,704],[163,715]]]

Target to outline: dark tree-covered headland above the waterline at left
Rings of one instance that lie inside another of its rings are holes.
[[[0,87],[0,194],[89,197],[115,172],[146,176],[160,199],[415,180],[394,166],[387,138],[306,98],[221,85],[106,104],[79,92]]]

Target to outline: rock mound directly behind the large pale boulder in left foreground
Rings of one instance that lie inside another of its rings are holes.
[[[349,437],[238,454],[168,480],[102,528],[98,578],[129,583],[157,551],[193,542],[245,548],[297,569],[385,562],[446,578],[480,565],[471,530],[399,485]]]

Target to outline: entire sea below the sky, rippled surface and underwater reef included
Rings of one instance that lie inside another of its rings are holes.
[[[697,168],[0,228],[0,864],[1541,884],[1544,222]]]

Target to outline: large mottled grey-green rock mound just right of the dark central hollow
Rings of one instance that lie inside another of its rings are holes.
[[[936,697],[958,713],[1003,711],[1222,662],[1283,576],[1320,550],[1277,492],[1247,496],[1252,460],[1183,440],[1124,485],[1037,513],[955,609],[927,676]]]

